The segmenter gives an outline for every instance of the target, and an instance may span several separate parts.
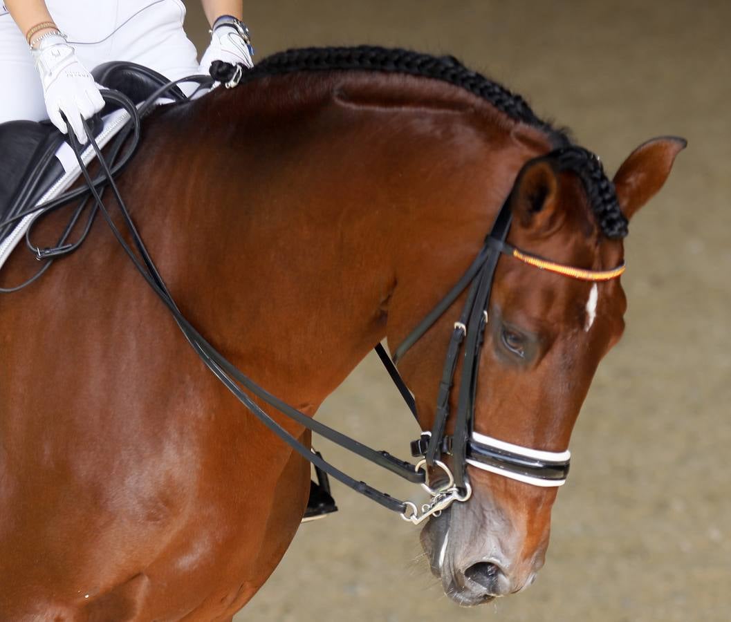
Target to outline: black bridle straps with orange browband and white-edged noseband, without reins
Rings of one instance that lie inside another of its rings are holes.
[[[594,153],[575,145],[558,148],[541,156],[555,163],[558,170],[572,170],[583,181],[587,194],[596,191],[587,170],[605,181],[601,164]],[[531,162],[523,165],[523,170]],[[521,171],[522,172],[522,171]],[[520,172],[516,179],[520,178]],[[469,287],[462,314],[455,322],[452,338],[447,346],[434,423],[431,431],[422,434],[412,442],[412,455],[423,456],[428,466],[444,469],[441,458],[444,454],[452,456],[453,482],[460,490],[469,490],[467,465],[478,469],[516,479],[526,484],[540,487],[561,486],[569,474],[571,453],[569,450],[554,452],[536,450],[494,439],[474,431],[474,406],[477,393],[477,372],[480,368],[480,354],[485,338],[485,327],[489,322],[488,308],[491,298],[495,270],[501,254],[507,254],[520,261],[542,270],[562,274],[585,281],[609,281],[624,273],[624,262],[611,270],[587,270],[562,265],[548,259],[521,251],[506,242],[512,219],[512,192],[500,208],[490,234],[485,238],[482,250],[474,259],[463,277],[450,292],[425,316],[425,318],[404,338],[395,349],[393,360],[398,362],[404,354],[434,325],[447,311],[461,293]],[[455,371],[460,353],[462,372],[458,387],[457,412],[452,436],[446,433],[450,417],[450,396],[455,383]],[[393,376],[393,374],[392,374]],[[403,381],[402,381],[403,382]],[[398,382],[397,382],[398,384]],[[401,387],[400,387],[401,388]],[[415,414],[415,413],[414,413]],[[451,475],[451,474],[450,474]],[[452,481],[452,477],[450,477]]]

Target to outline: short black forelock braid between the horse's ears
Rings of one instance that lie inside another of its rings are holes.
[[[624,238],[629,232],[628,222],[619,207],[614,184],[605,175],[599,158],[576,145],[557,149],[549,156],[553,156],[562,169],[572,170],[579,176],[602,233],[607,238]]]

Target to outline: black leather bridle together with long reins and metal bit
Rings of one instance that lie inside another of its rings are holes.
[[[512,254],[515,255],[513,247],[507,245],[506,238],[510,230],[511,212],[510,212],[510,197],[504,202],[501,210],[496,217],[496,221],[493,224],[490,235],[485,238],[485,245],[483,246],[480,253],[474,259],[474,262],[470,265],[466,273],[462,278],[455,284],[454,287],[447,293],[442,301],[433,308],[425,319],[417,325],[416,328],[410,333],[404,342],[395,350],[393,362],[388,357],[385,349],[380,344],[376,346],[376,352],[379,354],[382,362],[384,363],[387,371],[393,378],[396,386],[404,397],[407,406],[417,418],[417,409],[414,402],[414,398],[406,387],[403,379],[399,375],[395,368],[395,361],[401,359],[409,348],[418,341],[430,327],[439,319],[452,303],[455,302],[457,297],[469,287],[469,293],[467,295],[466,304],[463,308],[462,314],[458,322],[455,322],[454,330],[452,331],[452,338],[447,348],[447,358],[444,364],[444,372],[442,374],[442,382],[439,386],[439,397],[436,407],[436,419],[431,432],[424,433],[423,436],[412,443],[412,450],[415,456],[423,456],[416,465],[400,460],[390,453],[385,451],[377,451],[371,447],[367,447],[364,444],[351,439],[348,436],[328,427],[317,420],[308,417],[308,415],[299,411],[298,409],[289,406],[284,403],[276,396],[271,395],[263,387],[249,379],[248,376],[243,374],[238,368],[235,367],[229,360],[227,360],[220,352],[218,352],[205,338],[197,331],[197,329],[188,322],[183,316],[178,306],[175,304],[172,295],[168,291],[164,284],[162,276],[159,274],[154,262],[152,261],[150,254],[148,253],[143,240],[140,238],[139,233],[135,228],[135,224],[132,222],[129,216],[129,211],[126,208],[124,200],[122,200],[118,188],[115,183],[115,174],[118,170],[121,170],[122,166],[129,159],[131,152],[137,146],[140,139],[140,117],[154,105],[156,99],[164,94],[170,88],[173,88],[177,83],[184,82],[186,80],[202,82],[200,77],[183,78],[182,80],[176,80],[169,83],[167,86],[160,88],[153,96],[151,96],[146,102],[139,107],[139,110],[126,96],[117,93],[116,91],[102,91],[102,95],[105,97],[107,102],[113,102],[115,105],[126,110],[129,114],[129,126],[124,133],[124,137],[129,137],[129,134],[133,134],[132,148],[128,149],[122,158],[120,164],[115,163],[118,154],[121,151],[121,146],[124,140],[119,140],[113,148],[110,157],[105,159],[96,145],[93,133],[85,123],[85,129],[90,138],[91,148],[93,148],[96,158],[99,159],[101,164],[101,172],[99,176],[92,179],[89,174],[86,164],[83,162],[83,148],[77,143],[75,136],[69,134],[69,142],[72,145],[73,151],[77,158],[77,162],[80,166],[80,170],[86,180],[87,188],[85,194],[87,197],[91,197],[94,200],[95,207],[94,213],[98,210],[102,213],[102,216],[107,221],[108,226],[117,238],[118,243],[122,246],[125,253],[129,256],[129,259],[135,265],[135,268],[140,272],[149,287],[154,290],[156,295],[160,298],[162,303],[168,308],[170,314],[173,315],[175,322],[185,336],[186,340],[192,346],[194,351],[198,354],[202,362],[211,370],[211,372],[221,381],[222,384],[235,396],[235,398],[246,406],[254,416],[256,416],[270,431],[279,436],[279,438],[287,443],[292,450],[298,452],[303,458],[309,460],[319,469],[325,471],[344,485],[352,488],[358,493],[361,493],[373,501],[381,504],[388,509],[395,512],[399,512],[404,519],[409,520],[412,523],[420,523],[430,515],[439,512],[444,507],[450,505],[453,501],[466,501],[469,498],[471,489],[469,488],[469,480],[466,474],[467,464],[477,466],[481,469],[491,470],[499,474],[505,474],[507,477],[513,477],[513,479],[520,479],[528,483],[537,485],[560,485],[564,482],[568,469],[569,469],[569,456],[568,452],[542,452],[539,450],[531,450],[529,448],[520,447],[518,445],[508,444],[504,441],[497,439],[489,439],[487,436],[482,436],[473,431],[474,423],[474,401],[475,392],[477,389],[477,371],[480,364],[480,352],[482,341],[485,333],[485,326],[488,323],[488,304],[491,297],[491,287],[493,284],[496,266],[501,254]],[[228,86],[228,85],[227,85]],[[580,153],[587,153],[580,148],[564,148],[580,151]],[[591,155],[591,154],[590,154]],[[591,155],[591,157],[594,157]],[[113,222],[110,213],[107,211],[104,202],[102,201],[102,193],[104,189],[108,187],[113,191],[115,199],[118,202],[119,208],[123,215],[124,224],[129,232],[129,236],[133,240],[134,249],[126,243],[124,235]],[[79,190],[64,194],[63,197],[59,197],[53,202],[47,205],[39,205],[32,210],[23,212],[18,216],[15,216],[12,221],[17,221],[20,217],[26,216],[28,213],[37,213],[38,216],[42,216],[48,211],[58,208],[59,205],[72,200],[73,198],[84,194]],[[10,221],[0,223],[0,226],[9,224]],[[87,231],[88,231],[87,227]],[[67,230],[68,231],[68,230]],[[66,238],[63,238],[62,243],[66,243]],[[74,249],[78,245],[73,245]],[[47,249],[45,254],[38,254],[39,259],[52,260],[58,257],[64,256],[71,250],[65,249],[59,246],[58,249]],[[528,254],[523,254],[523,257],[534,257]],[[525,259],[523,259],[525,261]],[[544,261],[546,264],[557,266],[558,264],[551,264],[545,260],[534,257],[535,261]],[[540,267],[540,266],[539,266]],[[565,267],[567,269],[572,269]],[[550,268],[548,268],[550,269]],[[589,271],[583,271],[589,272]],[[577,277],[580,278],[580,277]],[[591,279],[599,280],[599,279]],[[454,433],[452,436],[445,434],[447,420],[450,417],[450,395],[452,392],[452,385],[455,380],[455,369],[458,362],[458,357],[463,349],[463,369],[461,373],[460,386],[458,390],[457,400],[457,413],[454,426]],[[335,466],[331,465],[327,461],[323,460],[319,454],[313,452],[309,447],[287,432],[284,428],[279,425],[276,420],[273,420],[260,406],[255,403],[246,391],[257,396],[265,403],[268,403],[273,408],[281,411],[284,415],[289,417],[304,428],[317,433],[319,436],[325,437],[335,444],[338,444],[344,449],[354,452],[360,457],[365,458],[379,466],[393,472],[394,474],[407,479],[409,482],[419,483],[423,485],[426,490],[431,494],[431,501],[422,507],[422,512],[417,511],[417,507],[411,501],[401,501],[397,498],[389,496],[387,493],[383,493],[376,488],[366,484],[366,482],[360,482],[356,479],[340,471]],[[454,475],[450,469],[442,462],[441,458],[444,454],[452,455],[452,469]],[[441,482],[439,487],[430,488],[427,484],[427,471],[422,468],[424,465],[441,468],[447,474],[447,482]],[[544,483],[541,483],[544,482]]]

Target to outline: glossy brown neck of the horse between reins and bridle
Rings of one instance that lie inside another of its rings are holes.
[[[548,150],[457,88],[367,74],[220,89],[152,132],[137,165],[166,180],[167,210],[145,221],[162,273],[235,363],[302,407],[385,336],[393,301],[405,324],[436,303]]]

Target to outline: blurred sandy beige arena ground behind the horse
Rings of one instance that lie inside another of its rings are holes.
[[[188,4],[202,43],[197,3]],[[627,330],[577,424],[537,583],[461,609],[420,559],[415,528],[336,485],[341,511],[302,526],[236,621],[731,620],[731,3],[246,4],[259,58],[357,43],[452,53],[570,126],[609,172],[659,134],[689,146],[632,221]],[[400,455],[415,432],[372,357],[319,417]],[[412,494],[321,449],[358,477]]]

